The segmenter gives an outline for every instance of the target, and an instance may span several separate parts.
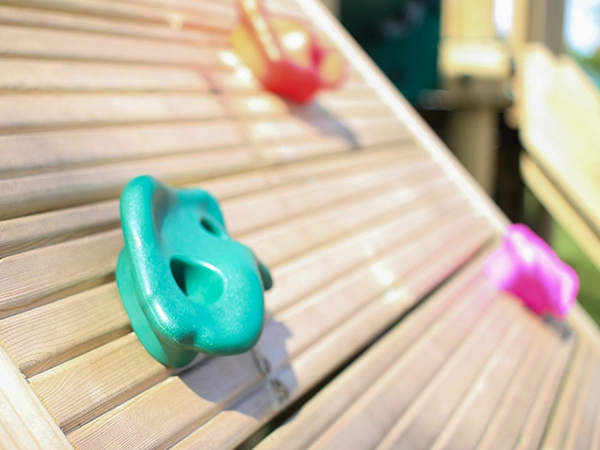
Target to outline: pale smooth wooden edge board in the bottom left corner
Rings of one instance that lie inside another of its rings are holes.
[[[42,402],[0,346],[0,442],[4,448],[71,449]]]

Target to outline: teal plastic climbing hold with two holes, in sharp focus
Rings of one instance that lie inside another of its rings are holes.
[[[144,347],[169,367],[199,353],[249,350],[263,326],[271,275],[231,239],[216,199],[142,176],[121,195],[121,300]]]

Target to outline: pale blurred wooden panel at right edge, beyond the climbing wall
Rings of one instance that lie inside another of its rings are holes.
[[[533,44],[524,51],[520,92],[525,149],[600,236],[600,93],[574,61]]]

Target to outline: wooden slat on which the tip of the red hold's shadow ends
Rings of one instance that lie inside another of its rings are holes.
[[[0,136],[0,148],[6,153],[6,162],[0,173],[4,172],[4,176],[7,176],[11,172],[19,173],[39,168],[48,170],[56,166],[91,165],[118,159],[178,155],[199,150],[212,150],[207,153],[214,158],[217,153],[216,147],[250,143],[285,146],[307,141],[314,145],[314,141],[320,137],[325,148],[331,147],[331,138],[338,138],[338,148],[355,147],[361,141],[376,145],[386,141],[407,140],[403,129],[397,125],[392,127],[388,119],[374,118],[370,122],[359,124],[356,130],[349,131],[331,116],[323,116],[311,124],[296,117],[284,116],[277,119],[221,119],[179,124],[57,130]],[[228,153],[239,155],[238,158],[246,164],[261,161],[259,148],[221,149],[216,156]],[[272,150],[270,154],[273,155]],[[172,159],[175,160],[174,157]],[[209,161],[204,162],[204,165],[207,163]],[[231,160],[229,164],[233,167],[236,161]]]

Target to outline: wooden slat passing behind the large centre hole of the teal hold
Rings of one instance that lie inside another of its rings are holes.
[[[413,169],[414,170],[414,169]],[[419,176],[419,172],[416,172]],[[426,179],[421,179],[424,182]],[[392,194],[395,195],[401,203],[394,203],[390,201],[386,196],[386,191],[379,192],[381,200],[385,201],[386,207],[391,207],[391,213],[404,214],[418,214],[418,209],[414,211],[408,205],[404,206],[403,209],[394,211],[410,199],[414,203],[414,207],[423,207],[424,204],[435,204],[435,202],[446,200],[449,192],[447,186],[437,187],[437,190],[430,192],[429,189],[424,186],[417,197],[412,195],[402,195],[404,191],[399,191],[398,186],[406,183],[410,183],[410,179],[404,180],[403,182],[396,182],[392,184]],[[439,183],[438,183],[439,184]],[[435,184],[434,184],[435,186]],[[414,186],[410,189],[414,189]],[[432,197],[431,194],[442,192],[445,193],[443,197],[438,200],[437,197]],[[429,197],[428,197],[429,195]],[[358,198],[360,200],[361,197]],[[394,200],[394,199],[392,199]],[[446,200],[447,201],[447,200]],[[363,201],[364,202],[364,201]],[[420,205],[419,205],[420,204]],[[452,205],[453,202],[447,203],[447,206]],[[379,211],[377,209],[367,209],[365,205],[359,203],[354,205],[350,203],[357,210],[358,221],[350,221],[350,228],[354,229],[358,227],[361,221],[373,221],[377,220]],[[342,212],[348,212],[343,209]],[[332,210],[335,212],[335,209]],[[331,214],[330,210],[320,212],[316,217],[325,215],[329,217]],[[442,211],[442,210],[440,210]],[[304,235],[302,238],[294,241],[294,245],[279,245],[277,242],[269,243],[267,236],[262,236],[260,240],[255,241],[251,237],[242,236],[242,240],[250,245],[257,251],[261,249],[271,249],[270,253],[263,259],[269,265],[273,266],[278,261],[285,260],[290,257],[290,252],[306,252],[309,249],[320,243],[323,239],[329,236],[329,239],[336,237],[339,241],[341,238],[340,227],[348,226],[348,215],[334,214],[333,219],[335,221],[328,221],[327,226],[337,233],[333,234],[317,234]],[[408,215],[408,218],[411,216]],[[418,216],[417,216],[418,217]],[[379,219],[381,221],[381,219]],[[337,221],[337,222],[336,222]],[[337,225],[337,228],[336,228]],[[388,225],[388,228],[393,228],[395,222]],[[271,234],[273,236],[281,236],[282,232],[295,232],[301,233],[305,228],[304,218],[292,219],[281,223],[277,226],[271,227]],[[364,228],[364,227],[363,227]],[[300,231],[299,231],[300,230]],[[366,230],[360,231],[361,228],[357,228],[358,239],[364,243],[369,241],[369,233],[372,230],[365,233]],[[356,234],[355,232],[355,234]],[[260,235],[259,235],[260,236]],[[356,239],[356,238],[353,238]],[[382,237],[379,238],[381,241]],[[85,244],[86,241],[84,241]],[[390,237],[390,243],[393,239]],[[83,244],[82,244],[83,245]],[[37,260],[35,253],[31,254],[32,260]],[[262,257],[262,255],[261,255]],[[74,320],[67,320],[68,318],[77,318]],[[101,317],[102,320],[98,321],[96,318]],[[22,336],[22,329],[28,330],[30,334],[26,335],[26,338]],[[118,301],[118,294],[114,283],[109,285],[84,291],[81,294],[72,296],[71,298],[60,300],[53,304],[45,307],[38,307],[29,312],[18,314],[7,318],[4,321],[0,321],[0,339],[2,339],[5,345],[10,349],[13,356],[16,358],[21,370],[28,376],[31,376],[40,370],[47,369],[56,365],[57,363],[68,360],[69,358],[75,357],[85,351],[91,350],[94,346],[101,345],[103,342],[114,338],[119,334],[124,334],[128,329],[128,321],[125,316],[120,302]]]

